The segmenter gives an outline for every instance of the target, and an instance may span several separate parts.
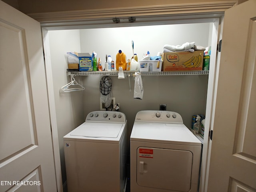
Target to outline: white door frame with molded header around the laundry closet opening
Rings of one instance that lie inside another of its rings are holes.
[[[54,88],[52,78],[52,64],[49,51],[49,30],[85,29],[85,28],[109,28],[125,26],[146,26],[159,24],[188,24],[188,23],[213,23],[212,50],[217,50],[218,39],[221,36],[219,26],[221,26],[224,11],[235,6],[238,1],[182,4],[165,6],[145,6],[144,8],[105,9],[105,10],[82,10],[69,12],[52,12],[40,14],[28,14],[28,16],[41,23],[42,39],[45,54],[45,68],[48,88],[48,102],[50,109],[50,120],[52,126],[52,143],[54,149],[54,161],[56,169],[56,180],[58,190],[62,191],[62,175],[60,166],[60,152],[58,140],[58,127],[56,119],[56,108],[54,100]],[[181,9],[182,8],[182,9]],[[125,10],[125,14],[124,14]],[[99,14],[100,13],[100,14]],[[111,13],[111,14],[110,14]],[[115,15],[115,16],[114,16]],[[112,18],[120,15],[121,23],[113,23]],[[136,22],[125,22],[130,16],[136,17]],[[222,24],[223,25],[223,24]],[[214,43],[215,42],[215,43]],[[211,53],[210,72],[208,77],[208,90],[206,102],[206,129],[212,130],[214,120],[216,90],[218,81],[219,58],[215,52]],[[200,178],[200,191],[206,191],[208,182],[208,168],[210,160],[211,142],[208,137],[204,138],[204,148],[202,157],[202,168]]]

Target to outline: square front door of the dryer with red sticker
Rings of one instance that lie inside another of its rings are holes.
[[[139,147],[137,183],[140,186],[187,192],[193,154],[186,150]]]

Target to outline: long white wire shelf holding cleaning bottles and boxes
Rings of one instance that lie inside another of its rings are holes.
[[[124,71],[124,75],[132,75],[136,71]],[[107,75],[118,76],[118,71],[69,71],[68,75]],[[170,71],[170,72],[140,72],[141,75],[207,75],[209,71]]]

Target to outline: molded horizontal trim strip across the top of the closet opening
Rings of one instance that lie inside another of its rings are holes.
[[[74,10],[61,12],[33,13],[28,16],[40,23],[52,22],[81,22],[92,20],[106,20],[115,17],[146,17],[146,16],[173,16],[173,15],[194,15],[194,14],[219,14],[224,13],[228,8],[238,3],[234,1],[202,2],[188,4],[168,4],[159,6],[141,6],[124,8],[107,8],[93,10]]]

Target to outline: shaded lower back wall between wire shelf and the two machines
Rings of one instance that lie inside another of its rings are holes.
[[[100,78],[102,76],[84,77],[84,113],[100,108]],[[193,114],[205,114],[208,75],[190,76],[142,76],[143,99],[134,99],[134,77],[130,76],[132,92],[129,91],[128,76],[112,79],[112,96],[120,103],[120,111],[126,114],[128,132],[136,113],[140,110],[159,110],[160,104],[166,104],[167,110],[181,114],[184,124],[191,126]],[[128,134],[130,136],[130,134]]]

